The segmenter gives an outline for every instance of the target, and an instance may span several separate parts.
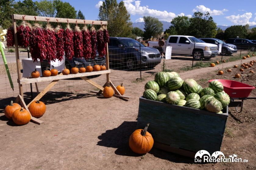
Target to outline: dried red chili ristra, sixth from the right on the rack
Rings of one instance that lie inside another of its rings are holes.
[[[73,31],[67,24],[67,28],[64,31],[64,51],[66,58],[69,60],[72,60],[74,56],[73,36]]]

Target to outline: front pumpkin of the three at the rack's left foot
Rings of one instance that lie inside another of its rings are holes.
[[[23,109],[23,107],[15,110],[12,114],[12,120],[14,121],[15,124],[18,124],[18,125],[27,124],[30,121],[30,119],[31,119],[31,116],[29,112],[26,109]]]

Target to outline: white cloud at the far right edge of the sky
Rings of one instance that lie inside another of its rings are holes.
[[[233,22],[233,24],[235,25],[245,25],[245,24],[249,24],[249,25],[256,25],[256,22],[250,22],[249,20],[252,17],[252,13],[251,12],[247,12],[243,15],[230,15],[230,16],[226,16],[225,18],[228,19],[229,21]],[[254,19],[255,21],[255,19]]]

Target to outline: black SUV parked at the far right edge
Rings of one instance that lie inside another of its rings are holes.
[[[236,45],[237,49],[244,49],[254,51],[256,44],[251,42],[249,39],[241,38],[229,38],[226,40],[226,43]]]

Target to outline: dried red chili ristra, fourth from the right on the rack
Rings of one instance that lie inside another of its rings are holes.
[[[82,34],[83,34],[84,58],[89,59],[91,58],[91,35],[86,25],[84,25],[84,28],[82,29]]]

